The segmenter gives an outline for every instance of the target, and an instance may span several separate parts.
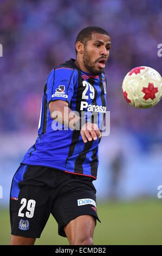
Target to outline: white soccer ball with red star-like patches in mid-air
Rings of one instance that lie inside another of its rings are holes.
[[[125,76],[122,93],[133,107],[153,107],[162,97],[162,78],[156,70],[148,66],[138,66]]]

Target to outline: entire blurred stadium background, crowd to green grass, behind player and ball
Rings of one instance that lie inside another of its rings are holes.
[[[126,73],[139,65],[160,74],[160,0],[1,0],[0,44],[0,244],[10,241],[9,192],[12,176],[37,136],[44,84],[51,69],[75,58],[75,38],[87,26],[112,36],[107,103],[111,133],[102,138],[98,180],[98,245],[161,244],[162,101],[135,109],[121,92]],[[36,244],[68,244],[50,218]]]

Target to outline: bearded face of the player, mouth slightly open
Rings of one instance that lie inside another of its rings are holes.
[[[100,75],[105,69],[105,64],[111,48],[111,38],[108,35],[93,33],[92,39],[84,47],[83,64],[93,75]]]

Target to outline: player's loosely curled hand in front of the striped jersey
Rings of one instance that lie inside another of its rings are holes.
[[[99,130],[98,125],[93,124],[93,123],[89,123],[87,122],[86,124],[84,124],[81,127],[81,136],[83,139],[83,142],[87,142],[88,141],[92,141],[92,139],[94,139],[94,141],[96,141],[96,139],[101,138],[101,133]]]

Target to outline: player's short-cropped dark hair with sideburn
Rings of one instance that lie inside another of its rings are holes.
[[[92,34],[93,33],[109,35],[107,33],[107,31],[105,29],[103,29],[103,28],[93,27],[93,26],[92,27],[86,27],[86,28],[83,28],[79,32],[79,34],[77,35],[76,41],[75,41],[75,45],[76,45],[77,41],[80,41],[80,42],[82,42],[83,45],[86,45],[87,41],[92,39]],[[76,47],[75,47],[75,52],[76,52],[76,55],[77,55]]]

